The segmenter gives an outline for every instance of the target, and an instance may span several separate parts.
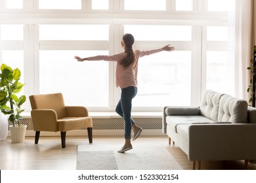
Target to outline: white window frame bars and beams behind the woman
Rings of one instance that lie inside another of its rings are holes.
[[[39,93],[39,49],[56,49],[59,43],[62,42],[39,42],[38,25],[40,24],[108,24],[110,25],[109,42],[98,42],[94,47],[90,46],[89,49],[102,50],[102,48],[106,49],[108,47],[110,54],[123,51],[119,45],[123,35],[123,25],[192,25],[191,42],[159,41],[154,46],[158,47],[171,43],[176,50],[192,50],[192,73],[196,74],[192,74],[191,78],[191,95],[193,97],[190,103],[191,105],[200,105],[202,91],[206,89],[206,51],[216,44],[219,50],[226,50],[227,44],[227,42],[206,42],[205,26],[227,26],[228,12],[207,12],[207,0],[194,0],[193,10],[188,12],[176,11],[175,0],[166,0],[167,8],[165,11],[124,10],[123,0],[109,0],[109,2],[109,10],[92,10],[91,0],[81,0],[81,10],[39,10],[38,0],[24,0],[22,10],[8,10],[5,8],[5,1],[0,0],[0,25],[24,24],[24,41],[1,41],[1,44],[3,50],[10,48],[24,50],[24,80],[26,82],[24,92],[26,96]],[[104,17],[104,20],[102,20],[102,17]],[[75,43],[70,44],[71,46],[66,49],[74,50],[81,44],[91,42],[76,41]],[[49,45],[53,47],[50,48]],[[142,49],[148,48],[148,42],[138,41],[136,45]],[[109,64],[110,107],[92,107],[89,108],[90,110],[114,111],[115,105],[119,101],[120,90],[115,86],[116,63],[110,62]],[[133,110],[161,111],[162,108],[154,106],[137,107]]]

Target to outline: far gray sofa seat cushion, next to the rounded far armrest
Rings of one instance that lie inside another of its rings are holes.
[[[215,121],[204,116],[166,116],[166,123],[169,129],[177,133],[177,125],[180,124],[198,124],[215,123]]]

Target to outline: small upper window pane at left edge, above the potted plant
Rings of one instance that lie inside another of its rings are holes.
[[[0,25],[1,40],[23,40],[23,25]]]

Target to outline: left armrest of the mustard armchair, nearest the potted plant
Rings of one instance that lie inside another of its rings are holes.
[[[33,109],[31,117],[34,131],[58,131],[58,117],[54,110]]]

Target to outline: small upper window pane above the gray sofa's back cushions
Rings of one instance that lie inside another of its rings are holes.
[[[228,27],[207,27],[207,41],[228,41]]]

